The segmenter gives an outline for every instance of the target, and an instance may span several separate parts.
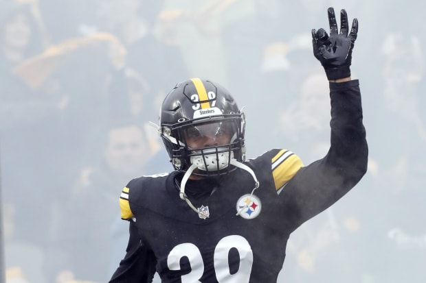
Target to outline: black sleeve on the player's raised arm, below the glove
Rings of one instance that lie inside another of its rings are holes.
[[[294,229],[348,193],[367,171],[368,146],[358,80],[330,83],[330,99],[328,153],[302,167],[280,194]]]

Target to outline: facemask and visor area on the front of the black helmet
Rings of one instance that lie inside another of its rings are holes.
[[[170,157],[175,169],[186,171],[194,164],[194,175],[223,175],[235,169],[230,160],[245,160],[244,125],[244,114],[225,114],[183,121],[161,136],[169,148],[173,145]]]

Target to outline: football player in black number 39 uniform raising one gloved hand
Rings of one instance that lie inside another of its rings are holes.
[[[161,106],[159,134],[174,171],[131,180],[120,197],[130,222],[111,283],[276,282],[287,240],[353,188],[367,170],[359,82],[350,77],[358,21],[312,30],[331,99],[330,149],[309,165],[287,149],[245,158],[245,115],[223,86],[188,79]]]

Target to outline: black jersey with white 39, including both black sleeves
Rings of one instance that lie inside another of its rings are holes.
[[[181,173],[131,180],[120,197],[131,221],[127,254],[111,282],[276,282],[287,240],[334,204],[366,172],[368,149],[358,82],[330,84],[331,146],[304,166],[286,149],[271,149],[221,177],[211,193],[179,198]]]

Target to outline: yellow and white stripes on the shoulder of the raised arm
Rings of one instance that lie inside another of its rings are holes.
[[[272,158],[272,175],[276,190],[284,186],[303,167],[302,160],[293,152],[283,149]]]

